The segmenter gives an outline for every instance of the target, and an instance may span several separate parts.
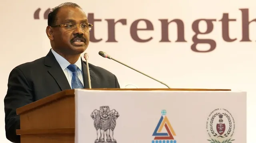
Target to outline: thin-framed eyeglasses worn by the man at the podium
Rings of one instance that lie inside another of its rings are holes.
[[[75,24],[75,23],[66,23],[66,24],[61,24],[61,25],[53,25],[51,27],[65,27],[67,30],[74,30],[76,29],[77,25],[80,26],[82,31],[87,31],[92,29],[92,24],[90,23],[82,23],[82,24]]]

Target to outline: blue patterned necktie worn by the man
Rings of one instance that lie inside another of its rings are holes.
[[[78,72],[77,72],[78,67],[76,65],[69,65],[67,68],[70,71],[72,71],[72,80],[71,80],[72,89],[84,88],[82,82],[78,78]]]

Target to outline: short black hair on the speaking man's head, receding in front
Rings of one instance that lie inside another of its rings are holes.
[[[52,8],[48,14],[48,26],[52,26],[52,25],[55,25],[56,21],[57,21],[57,13],[58,11],[60,10],[61,7],[64,7],[64,6],[67,6],[67,7],[73,7],[73,8],[80,8],[82,10],[82,8],[76,4],[76,3],[73,3],[73,2],[64,2],[54,8]]]

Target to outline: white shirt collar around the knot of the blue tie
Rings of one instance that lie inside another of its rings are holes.
[[[61,69],[64,71],[70,65],[70,63],[64,57],[56,53],[53,49],[51,49],[51,51],[57,62],[60,64]],[[74,65],[76,65],[78,69],[82,71],[82,60],[80,58],[76,61],[76,63],[74,63]]]

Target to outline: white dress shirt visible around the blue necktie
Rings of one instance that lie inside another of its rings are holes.
[[[63,70],[64,74],[66,75],[66,78],[68,80],[70,88],[72,88],[72,86],[71,86],[72,72],[67,68],[70,65],[70,63],[64,57],[62,57],[61,55],[56,53],[53,49],[51,49],[51,51],[52,51],[55,59],[60,64],[60,67]],[[82,82],[82,84],[84,86],[84,79],[83,79],[83,74],[82,74],[82,61],[81,61],[81,59],[79,58],[74,65],[76,65],[78,67],[78,69],[77,69],[78,78],[80,79],[80,81]]]

